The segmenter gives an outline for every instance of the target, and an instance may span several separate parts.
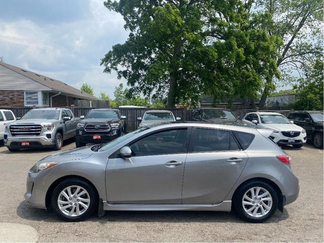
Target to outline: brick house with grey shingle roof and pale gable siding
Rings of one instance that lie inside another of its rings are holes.
[[[99,100],[54,78],[0,62],[0,107],[66,107],[78,99]]]

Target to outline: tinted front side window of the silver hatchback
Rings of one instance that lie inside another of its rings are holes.
[[[132,145],[133,156],[181,153],[187,129],[168,130],[149,135]]]

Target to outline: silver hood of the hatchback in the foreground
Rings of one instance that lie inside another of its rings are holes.
[[[77,159],[86,159],[90,157],[94,151],[91,150],[93,145],[89,145],[81,148],[73,148],[70,150],[54,153],[45,158],[39,160],[39,162],[52,161],[52,162],[62,162],[67,160],[77,160]]]

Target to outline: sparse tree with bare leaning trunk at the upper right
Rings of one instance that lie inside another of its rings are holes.
[[[313,65],[314,58],[322,56],[322,0],[257,0],[256,14],[264,20],[256,23],[257,29],[266,30],[270,36],[281,36],[284,44],[277,46],[279,56],[273,57],[281,72],[280,82],[293,82],[293,71],[302,72]],[[264,79],[259,108],[275,90],[277,76]]]

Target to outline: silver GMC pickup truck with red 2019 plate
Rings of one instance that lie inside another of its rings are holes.
[[[38,108],[6,125],[4,144],[10,151],[21,148],[62,148],[63,140],[75,136],[80,118],[66,108]]]

